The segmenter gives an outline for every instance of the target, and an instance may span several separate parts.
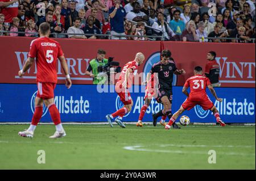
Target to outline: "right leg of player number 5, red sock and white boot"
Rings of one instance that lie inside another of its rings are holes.
[[[55,124],[56,127],[56,132],[53,134],[53,136],[50,136],[50,138],[57,138],[57,137],[64,137],[66,136],[66,133],[64,131],[64,128],[61,124],[61,120],[60,120],[60,112],[57,109],[55,103],[54,103],[54,99],[46,99],[44,100],[44,104],[46,105],[46,107],[48,107],[49,113],[51,115],[51,119],[53,121],[53,123]]]

